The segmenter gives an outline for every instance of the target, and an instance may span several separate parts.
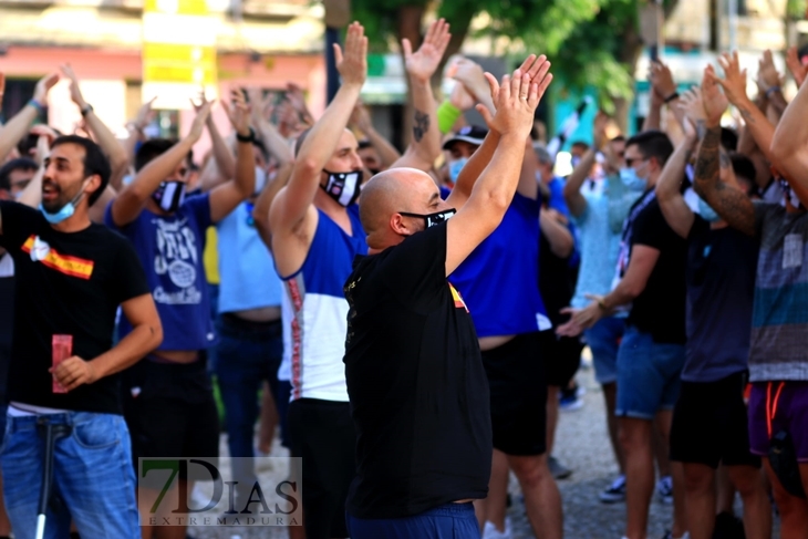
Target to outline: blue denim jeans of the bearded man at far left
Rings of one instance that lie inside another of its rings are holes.
[[[44,455],[38,423],[42,422],[72,427],[55,443],[44,537],[66,538],[72,519],[82,539],[139,539],[126,423],[120,415],[87,412],[8,417],[0,465],[14,537],[35,536]]]

